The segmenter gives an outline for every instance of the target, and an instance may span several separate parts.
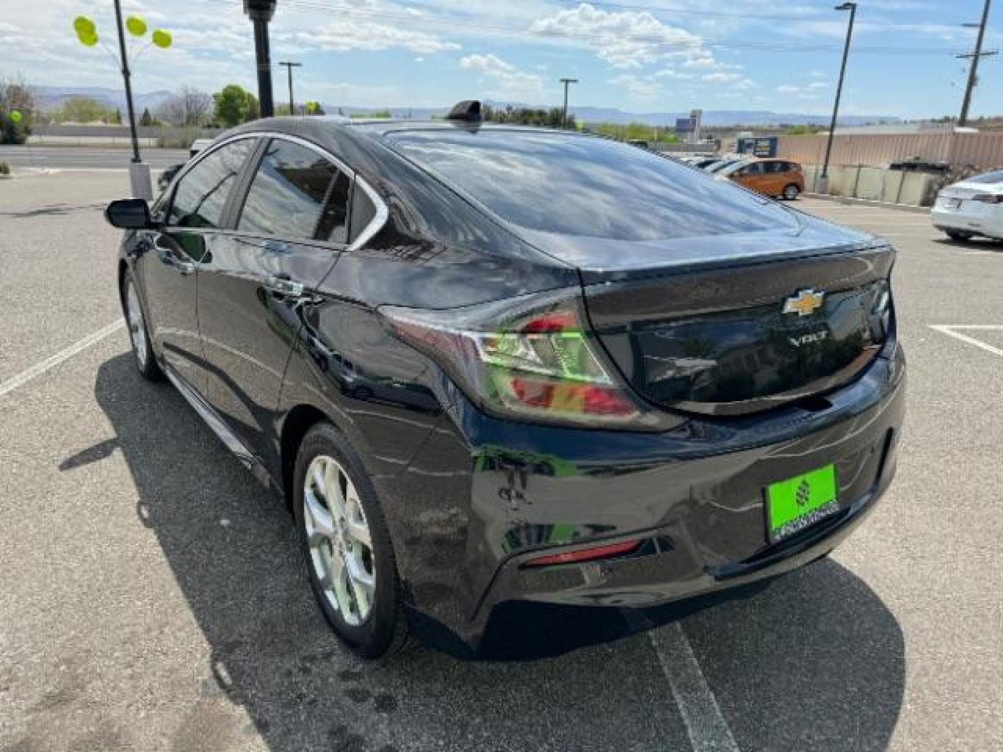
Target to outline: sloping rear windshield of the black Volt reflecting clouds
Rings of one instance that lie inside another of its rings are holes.
[[[527,230],[652,241],[797,227],[769,200],[605,138],[486,129],[399,131],[388,138]]]

